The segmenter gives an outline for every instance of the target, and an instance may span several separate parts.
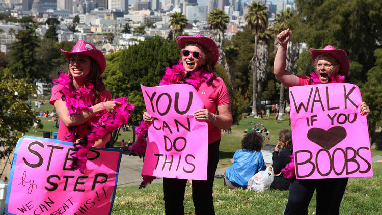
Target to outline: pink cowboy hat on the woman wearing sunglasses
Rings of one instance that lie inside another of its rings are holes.
[[[209,50],[212,55],[212,64],[213,66],[216,65],[217,59],[219,59],[219,50],[217,49],[215,41],[199,34],[195,34],[194,36],[179,36],[176,38],[176,43],[178,43],[180,49],[184,48],[188,42],[199,43]]]

